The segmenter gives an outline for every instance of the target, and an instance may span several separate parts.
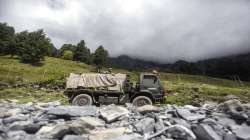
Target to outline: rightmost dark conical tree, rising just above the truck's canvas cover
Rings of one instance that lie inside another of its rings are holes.
[[[108,51],[103,48],[103,46],[99,46],[95,53],[93,54],[93,61],[97,66],[97,69],[101,69],[103,66],[108,63]]]

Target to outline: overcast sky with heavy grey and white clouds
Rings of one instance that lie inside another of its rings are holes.
[[[250,51],[250,0],[0,0],[0,22],[163,63]]]

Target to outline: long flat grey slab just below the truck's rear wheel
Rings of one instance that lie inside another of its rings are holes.
[[[59,117],[96,116],[95,106],[57,106],[48,108],[47,114]]]

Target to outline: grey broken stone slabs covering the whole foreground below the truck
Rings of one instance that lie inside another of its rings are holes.
[[[250,104],[62,106],[0,103],[0,139],[250,140]]]

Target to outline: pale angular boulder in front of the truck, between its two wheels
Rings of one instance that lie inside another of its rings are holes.
[[[111,123],[123,116],[127,116],[129,111],[125,107],[108,105],[100,109],[101,117],[107,122]]]

